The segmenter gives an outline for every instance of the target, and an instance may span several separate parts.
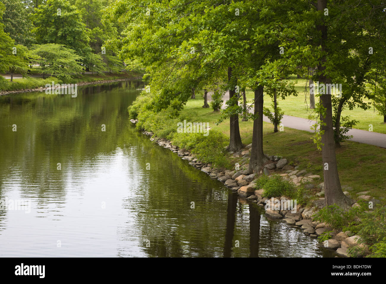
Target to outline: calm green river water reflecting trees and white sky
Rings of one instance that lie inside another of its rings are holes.
[[[25,202],[0,208],[1,257],[332,256],[136,131],[142,87],[0,97],[0,200]]]

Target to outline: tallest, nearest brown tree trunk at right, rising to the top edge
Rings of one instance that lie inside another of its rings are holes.
[[[327,0],[318,0],[317,10],[324,11],[327,8]],[[326,52],[327,27],[324,24],[317,25],[317,30],[321,32],[320,45],[322,52]],[[325,66],[322,66],[326,61],[326,56],[323,55],[322,60],[318,64],[319,83],[330,83],[330,78],[326,77],[323,73]],[[329,88],[326,88],[329,89]],[[325,94],[320,95],[320,103],[325,108],[325,117],[320,115],[320,120],[323,124],[320,126],[320,130],[324,131],[322,134],[322,160],[323,160],[323,176],[324,176],[324,192],[325,192],[325,204],[333,205],[337,204],[340,207],[349,207],[351,202],[347,196],[342,192],[340,186],[337,160],[335,155],[335,143],[334,132],[332,128],[332,105],[331,94],[329,90],[325,91]]]

